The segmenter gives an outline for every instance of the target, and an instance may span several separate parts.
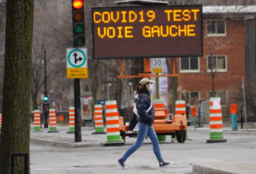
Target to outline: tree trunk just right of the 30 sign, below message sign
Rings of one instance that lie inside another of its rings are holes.
[[[169,58],[167,58],[166,63],[167,63],[167,67],[168,67],[168,72],[169,74],[173,73],[173,61],[176,58],[171,58],[171,60],[168,60]],[[175,73],[177,73],[177,60],[175,61]],[[169,77],[169,80],[171,82],[171,112],[172,114],[175,114],[175,102],[178,100],[178,77]]]

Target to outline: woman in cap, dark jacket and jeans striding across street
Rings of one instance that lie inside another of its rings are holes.
[[[152,92],[152,84],[154,81],[144,78],[140,80],[140,84],[137,85],[137,104],[134,108],[134,114],[137,115],[137,121],[139,125],[139,131],[137,135],[137,141],[130,146],[126,153],[117,162],[123,168],[126,169],[126,159],[129,158],[133,152],[137,151],[141,145],[143,145],[146,135],[150,138],[153,144],[154,155],[156,155],[160,167],[165,167],[171,164],[171,162],[164,162],[161,156],[160,147],[156,132],[152,125],[154,124],[154,107],[152,106],[150,93]]]

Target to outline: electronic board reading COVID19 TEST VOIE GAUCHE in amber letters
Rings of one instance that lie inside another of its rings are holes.
[[[94,59],[202,56],[202,5],[92,8]]]

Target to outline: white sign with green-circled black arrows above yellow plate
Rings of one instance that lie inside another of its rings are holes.
[[[81,79],[88,77],[87,49],[67,49],[67,78]]]

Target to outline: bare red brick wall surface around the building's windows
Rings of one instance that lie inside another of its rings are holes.
[[[216,73],[215,90],[229,90],[241,86],[241,78],[246,75],[244,21],[227,20],[227,36],[208,37],[208,41],[210,44],[216,42],[227,44],[214,52],[216,55],[227,55],[227,72]],[[206,56],[209,55],[209,45],[206,39],[206,25],[204,25],[203,46],[204,56],[199,58],[199,73],[180,73],[178,87],[186,91],[199,91],[200,97],[207,99],[212,89],[212,80],[211,73],[207,73]],[[179,63],[178,59],[178,71]]]

